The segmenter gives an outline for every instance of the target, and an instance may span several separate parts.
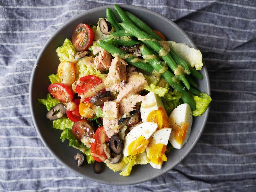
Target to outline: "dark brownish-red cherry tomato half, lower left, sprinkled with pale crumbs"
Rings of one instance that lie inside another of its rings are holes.
[[[93,138],[93,127],[86,121],[77,121],[72,126],[73,135],[80,141],[82,137]]]

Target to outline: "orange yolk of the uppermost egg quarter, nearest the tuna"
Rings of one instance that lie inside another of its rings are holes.
[[[147,122],[153,122],[158,125],[157,129],[169,127],[168,116],[164,110],[159,108],[158,110],[151,111],[148,114]]]

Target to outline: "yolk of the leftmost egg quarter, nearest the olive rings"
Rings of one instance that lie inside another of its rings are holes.
[[[145,139],[143,136],[139,136],[138,139],[131,142],[128,146],[128,154],[129,155],[137,155],[143,153],[149,143],[149,140]]]

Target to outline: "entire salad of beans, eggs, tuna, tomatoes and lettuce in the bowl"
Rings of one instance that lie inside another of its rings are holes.
[[[60,63],[39,102],[60,139],[81,151],[78,166],[94,163],[100,173],[105,164],[128,176],[138,164],[161,169],[211,98],[196,89],[199,50],[167,41],[118,5],[114,11],[107,8],[97,25],[78,23],[56,49]]]

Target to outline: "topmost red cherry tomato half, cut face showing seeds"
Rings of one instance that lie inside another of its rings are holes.
[[[80,23],[76,26],[72,34],[72,44],[77,51],[88,49],[92,45],[93,40],[94,32],[89,25]]]

